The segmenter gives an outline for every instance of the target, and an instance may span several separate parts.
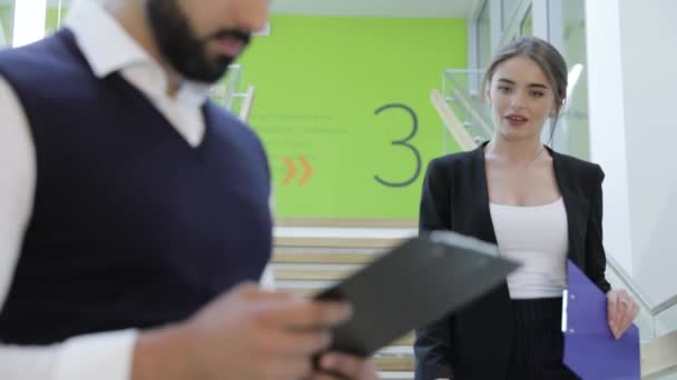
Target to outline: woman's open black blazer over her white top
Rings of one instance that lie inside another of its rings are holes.
[[[567,210],[568,257],[606,292],[610,286],[601,233],[604,172],[597,164],[548,150]],[[452,230],[496,243],[483,146],[430,162],[419,230]],[[460,312],[418,329],[415,379],[504,379],[512,341],[510,308],[504,282]]]

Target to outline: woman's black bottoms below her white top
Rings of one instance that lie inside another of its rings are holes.
[[[563,363],[562,299],[512,300],[514,338],[509,380],[578,380]]]

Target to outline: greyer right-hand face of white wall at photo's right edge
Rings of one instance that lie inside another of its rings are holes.
[[[677,1],[621,0],[635,278],[656,301],[677,293]]]

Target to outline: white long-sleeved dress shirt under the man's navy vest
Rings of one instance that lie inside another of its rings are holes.
[[[73,32],[94,73],[119,72],[138,88],[192,147],[205,134],[202,106],[209,86],[186,81],[167,94],[160,66],[108,13],[100,1],[76,1],[66,26]],[[6,301],[21,242],[32,212],[37,182],[36,150],[17,94],[0,77],[0,310]],[[273,288],[266,269],[264,286]],[[49,323],[49,321],[45,321]],[[3,380],[127,380],[136,330],[75,337],[49,347],[0,344]]]

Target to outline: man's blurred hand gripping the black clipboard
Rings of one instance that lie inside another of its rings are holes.
[[[239,286],[185,323],[144,333],[133,380],[305,379],[313,374],[311,358],[331,343],[330,329],[350,314],[345,303]],[[327,358],[341,373],[357,364]]]

